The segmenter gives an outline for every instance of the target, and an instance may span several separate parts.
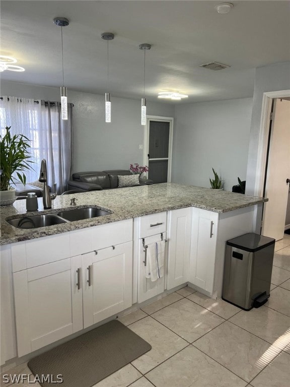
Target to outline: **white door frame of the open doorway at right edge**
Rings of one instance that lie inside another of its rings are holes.
[[[263,196],[272,99],[283,97],[290,97],[290,90],[270,91],[263,94],[254,193],[255,196]]]

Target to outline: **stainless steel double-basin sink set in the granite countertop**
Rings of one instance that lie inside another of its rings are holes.
[[[61,211],[56,214],[42,214],[6,219],[6,221],[16,228],[29,229],[91,219],[99,216],[111,215],[112,213],[112,211],[106,211],[99,207],[85,207]]]

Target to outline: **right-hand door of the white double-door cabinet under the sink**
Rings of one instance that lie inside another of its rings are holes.
[[[132,242],[83,254],[84,328],[132,305]]]

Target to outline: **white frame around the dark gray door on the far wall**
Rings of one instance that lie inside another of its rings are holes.
[[[163,117],[159,115],[147,115],[146,116],[146,125],[144,127],[144,139],[143,139],[143,164],[147,165],[148,163],[148,153],[149,153],[149,127],[150,121],[161,121],[169,122],[169,144],[168,144],[168,171],[167,171],[167,182],[171,182],[171,167],[172,167],[172,142],[173,142],[173,117]]]

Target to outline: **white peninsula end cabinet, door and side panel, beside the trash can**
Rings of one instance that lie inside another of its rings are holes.
[[[192,208],[189,283],[204,294],[222,297],[228,239],[253,232],[254,207],[226,213]]]

